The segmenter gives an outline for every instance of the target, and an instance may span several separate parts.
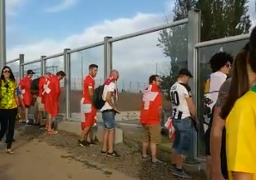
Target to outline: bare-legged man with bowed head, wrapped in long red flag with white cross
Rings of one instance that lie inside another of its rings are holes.
[[[65,72],[59,71],[56,75],[50,75],[44,84],[44,109],[47,114],[48,133],[56,134],[56,130],[52,130],[51,123],[52,119],[59,114],[59,96],[61,94],[61,88],[59,81],[66,76]]]

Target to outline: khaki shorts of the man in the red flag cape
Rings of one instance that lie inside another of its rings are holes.
[[[143,142],[149,143],[156,143],[159,144],[161,142],[161,125],[154,124],[154,125],[145,125],[144,128],[144,138]]]

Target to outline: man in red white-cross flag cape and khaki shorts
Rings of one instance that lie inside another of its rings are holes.
[[[161,162],[157,159],[157,144],[161,141],[161,113],[162,97],[160,92],[160,79],[159,76],[152,75],[149,78],[149,86],[147,86],[143,92],[140,123],[145,132],[142,144],[142,158],[143,160],[150,159],[146,154],[147,148],[150,145],[153,164]]]

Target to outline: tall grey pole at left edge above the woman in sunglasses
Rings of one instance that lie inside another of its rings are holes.
[[[0,69],[6,64],[5,0],[0,0]]]

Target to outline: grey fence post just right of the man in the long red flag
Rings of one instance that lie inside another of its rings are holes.
[[[70,49],[64,49],[64,71],[66,73],[65,78],[65,90],[66,90],[66,119],[71,117],[70,114],[70,91],[71,91],[71,75],[70,75],[70,54],[68,53]]]

